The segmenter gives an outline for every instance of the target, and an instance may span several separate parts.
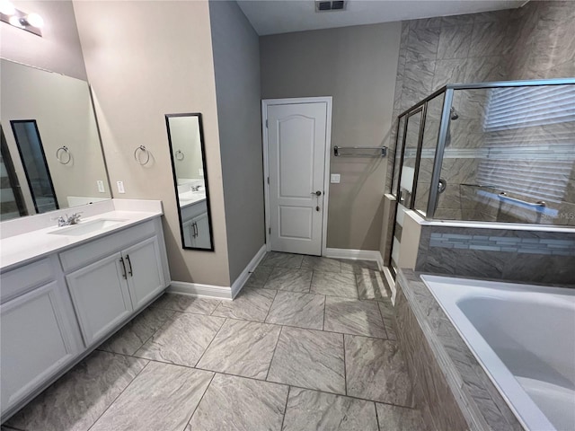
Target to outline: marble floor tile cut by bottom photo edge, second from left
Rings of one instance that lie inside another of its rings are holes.
[[[213,375],[150,362],[90,431],[181,431]]]

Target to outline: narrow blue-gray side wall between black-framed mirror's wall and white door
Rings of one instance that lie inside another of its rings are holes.
[[[235,2],[209,2],[230,281],[265,243],[258,35]]]

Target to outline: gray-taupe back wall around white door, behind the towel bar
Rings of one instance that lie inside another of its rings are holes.
[[[401,23],[265,36],[262,99],[332,96],[332,146],[388,145]],[[327,246],[379,250],[385,159],[335,158]]]

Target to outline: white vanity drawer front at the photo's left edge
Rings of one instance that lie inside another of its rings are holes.
[[[0,302],[4,303],[54,279],[50,259],[41,259],[2,274]]]

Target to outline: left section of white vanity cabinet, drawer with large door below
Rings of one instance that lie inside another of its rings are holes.
[[[55,263],[57,259],[41,259],[3,274],[3,412],[41,389],[84,348],[64,280],[53,271]]]

